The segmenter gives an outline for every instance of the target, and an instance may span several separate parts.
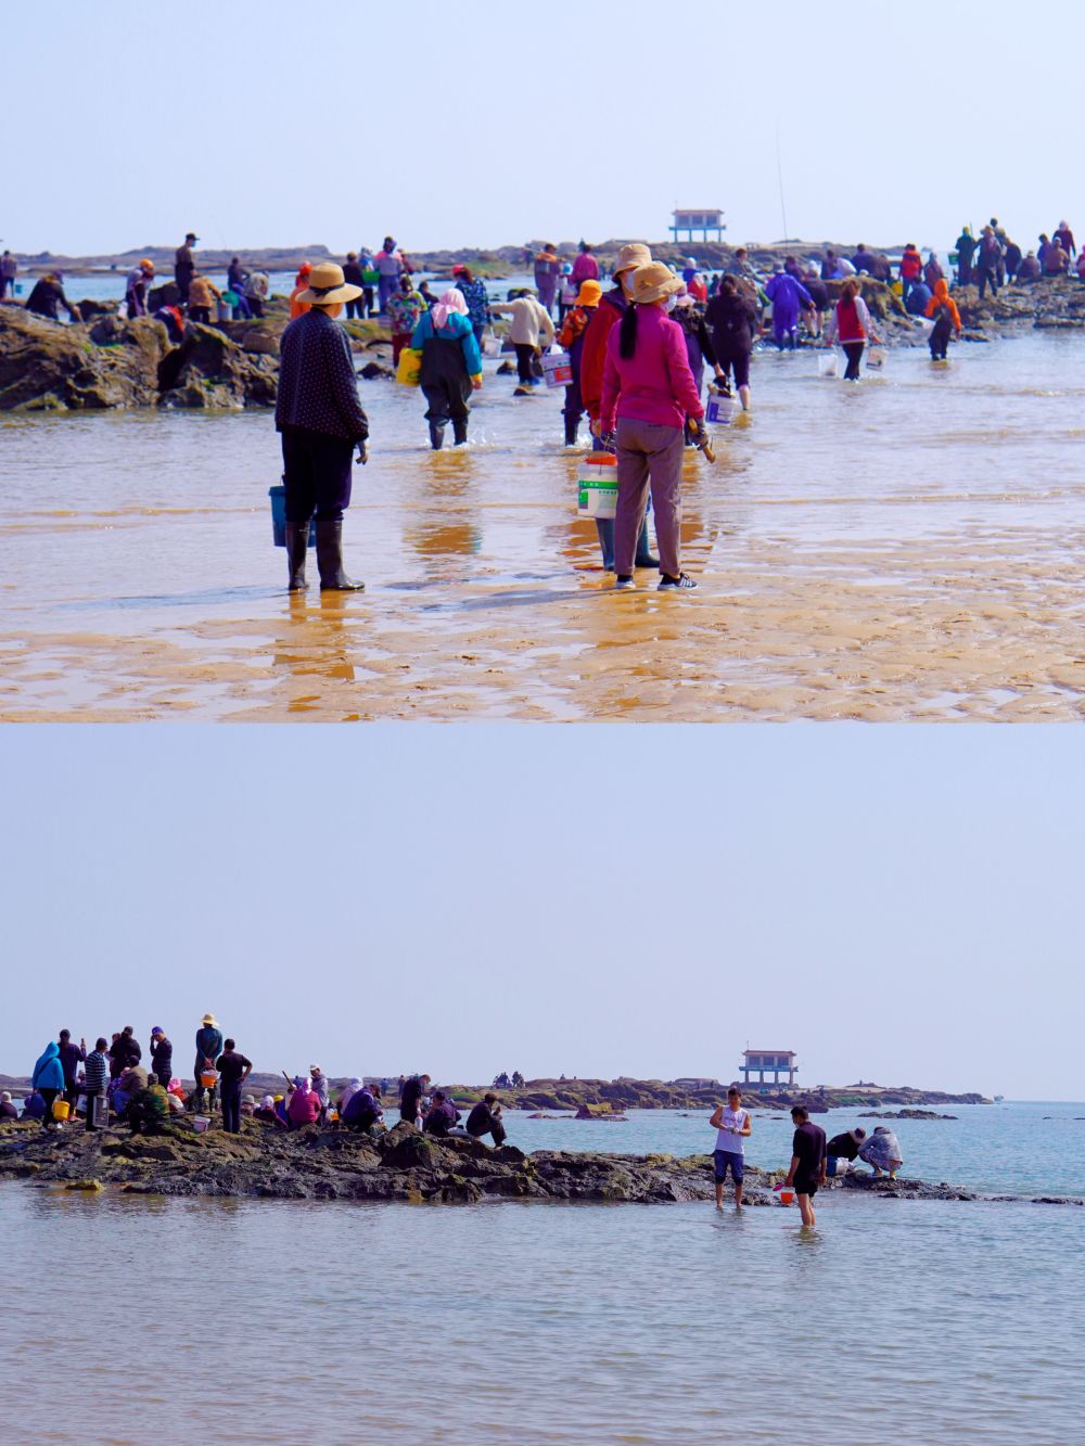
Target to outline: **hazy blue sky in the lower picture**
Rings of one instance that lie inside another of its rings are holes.
[[[1082,733],[9,727],[0,1073],[211,1009],[258,1069],[1076,1099]]]

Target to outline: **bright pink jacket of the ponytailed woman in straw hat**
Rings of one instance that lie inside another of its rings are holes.
[[[661,427],[681,427],[687,416],[703,416],[686,337],[677,321],[660,307],[638,307],[637,351],[628,362],[618,354],[621,330],[621,325],[612,327],[606,338],[599,408],[602,429],[613,431],[618,416]]]

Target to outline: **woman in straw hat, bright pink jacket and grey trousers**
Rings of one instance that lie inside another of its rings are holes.
[[[705,432],[705,408],[686,354],[681,327],[671,321],[681,282],[658,262],[634,272],[632,305],[606,343],[599,425],[618,453],[615,573],[634,586],[637,538],[651,484],[660,544],[660,591],[697,584],[681,570],[681,458],[684,428]]]

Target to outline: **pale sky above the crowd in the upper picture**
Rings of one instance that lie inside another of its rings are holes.
[[[1029,25],[1007,0],[940,0],[911,27],[809,0],[12,6],[0,240],[660,240],[681,205],[722,208],[732,243],[946,247],[997,214],[1031,244],[1068,211],[1085,230],[1072,143],[1043,121],[1084,43],[1085,7]]]

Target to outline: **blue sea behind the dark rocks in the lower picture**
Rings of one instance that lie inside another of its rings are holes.
[[[885,1106],[893,1109],[895,1106]],[[904,1155],[901,1176],[945,1180],[981,1194],[1085,1196],[1085,1105],[1027,1100],[1003,1105],[932,1105],[956,1119],[887,1119]],[[551,1111],[551,1113],[554,1113]],[[707,1154],[716,1131],[710,1111],[632,1109],[626,1124],[531,1119],[508,1113],[509,1144],[534,1150],[600,1150],[621,1154]],[[814,1124],[832,1137],[877,1119],[864,1109],[830,1109]],[[746,1160],[764,1170],[787,1168],[791,1118],[786,1111],[754,1111]],[[859,1170],[867,1165],[859,1163]],[[1085,1219],[1082,1220],[1085,1228]]]

